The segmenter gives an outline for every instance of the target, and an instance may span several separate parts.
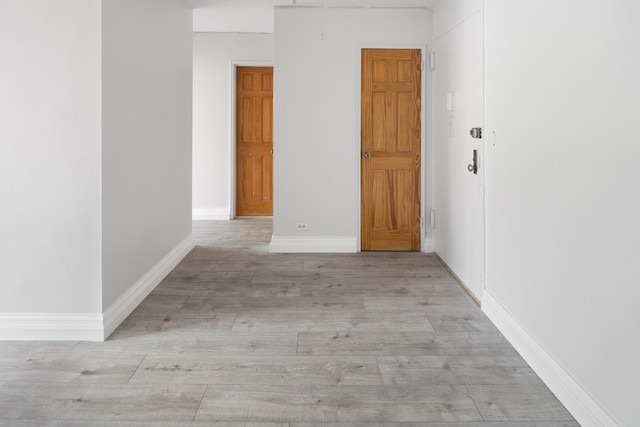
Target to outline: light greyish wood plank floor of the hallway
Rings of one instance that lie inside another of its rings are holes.
[[[194,234],[106,342],[1,342],[0,425],[578,426],[434,256]]]

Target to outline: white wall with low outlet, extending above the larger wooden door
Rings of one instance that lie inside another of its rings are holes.
[[[359,250],[360,48],[431,32],[426,9],[276,8],[272,251]]]

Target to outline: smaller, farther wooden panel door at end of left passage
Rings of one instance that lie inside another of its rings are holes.
[[[236,215],[273,214],[273,67],[236,68]]]

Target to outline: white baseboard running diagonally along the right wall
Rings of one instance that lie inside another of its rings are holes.
[[[482,311],[583,427],[618,424],[529,332],[485,289]]]

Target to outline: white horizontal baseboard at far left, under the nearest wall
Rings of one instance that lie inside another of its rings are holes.
[[[102,340],[102,314],[0,313],[0,341]]]

